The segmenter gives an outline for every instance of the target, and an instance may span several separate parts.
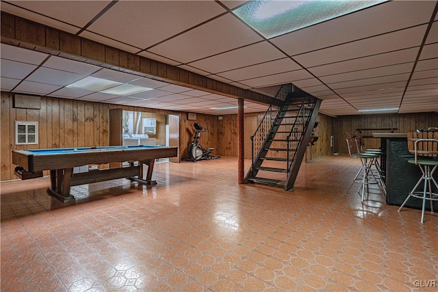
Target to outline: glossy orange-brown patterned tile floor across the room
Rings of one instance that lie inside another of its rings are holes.
[[[47,178],[3,182],[1,291],[437,291],[437,213],[345,196],[358,163],[305,163],[288,192],[238,185],[235,158],[157,163],[155,187],[67,204]]]

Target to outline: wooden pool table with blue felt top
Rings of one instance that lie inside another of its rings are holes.
[[[21,166],[26,172],[50,170],[51,187],[47,192],[67,202],[74,200],[70,195],[70,187],[73,185],[116,178],[129,178],[153,185],[156,183],[152,180],[155,159],[176,157],[177,151],[177,147],[151,145],[13,150],[12,163]],[[129,162],[129,166],[73,174],[73,168],[78,166],[125,161]],[[146,178],[143,174],[144,165],[148,166]]]

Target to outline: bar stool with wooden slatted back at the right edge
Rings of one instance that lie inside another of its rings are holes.
[[[422,171],[422,177],[418,180],[415,187],[404,200],[403,204],[400,206],[398,211],[404,207],[404,204],[412,198],[419,198],[423,200],[422,204],[422,220],[424,223],[424,208],[426,207],[426,200],[430,202],[430,211],[433,211],[433,201],[438,201],[438,184],[433,178],[433,173],[438,167],[438,132],[411,132],[408,133],[408,149],[409,152],[413,153],[414,159],[409,159],[409,163],[418,165]],[[424,181],[424,187],[422,190],[418,190],[420,184]],[[432,183],[437,188],[435,193],[432,189]]]

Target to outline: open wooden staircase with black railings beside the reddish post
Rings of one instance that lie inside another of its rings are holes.
[[[321,100],[285,84],[251,136],[252,159],[246,183],[294,187]]]

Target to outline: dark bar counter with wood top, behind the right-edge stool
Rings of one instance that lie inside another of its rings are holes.
[[[373,133],[373,137],[381,138],[381,148],[385,151],[381,157],[381,167],[387,187],[386,202],[400,206],[421,178],[422,172],[417,165],[408,163],[413,154],[408,150],[406,133]],[[438,181],[437,176],[437,173],[433,175]],[[411,198],[405,206],[422,209],[422,200]],[[438,202],[433,202],[433,208],[438,210]],[[428,202],[426,210],[430,211]]]

